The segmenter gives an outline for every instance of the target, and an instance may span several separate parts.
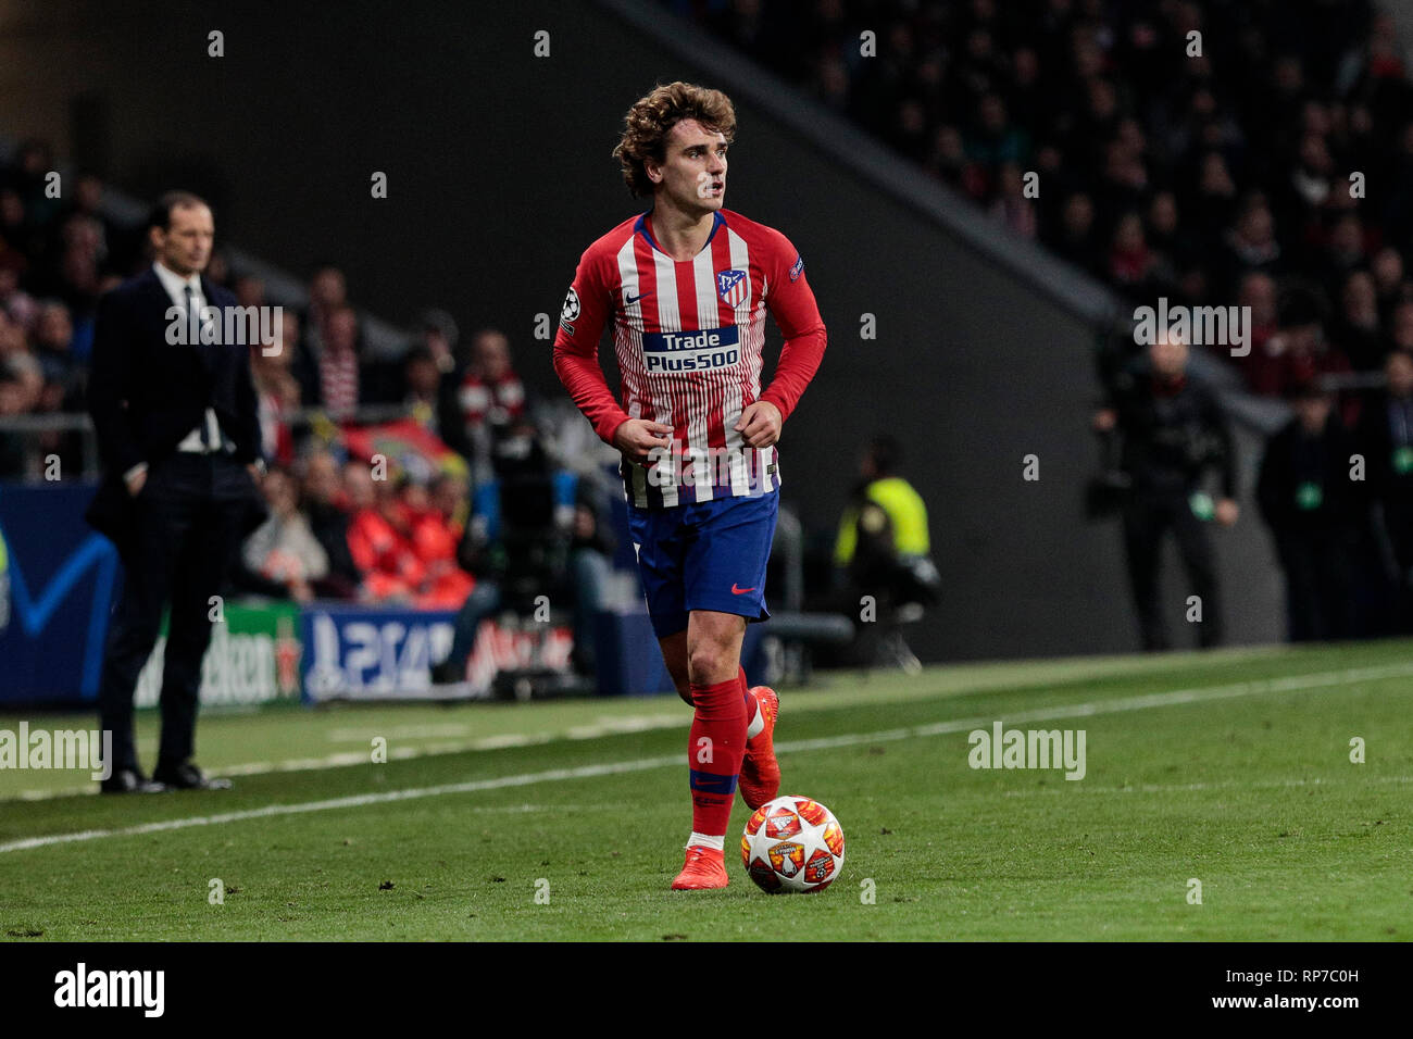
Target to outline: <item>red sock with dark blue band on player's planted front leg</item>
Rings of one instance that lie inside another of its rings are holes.
[[[691,738],[687,766],[692,792],[692,834],[725,837],[736,777],[746,755],[746,700],[750,694],[738,676],[715,686],[692,683]]]

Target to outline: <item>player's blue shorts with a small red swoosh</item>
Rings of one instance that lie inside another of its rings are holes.
[[[687,628],[694,609],[764,621],[766,564],[780,493],[718,498],[671,509],[627,506],[627,529],[657,638]]]

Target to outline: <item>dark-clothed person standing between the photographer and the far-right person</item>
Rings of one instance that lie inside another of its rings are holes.
[[[1290,393],[1294,418],[1266,444],[1256,502],[1286,575],[1291,642],[1356,635],[1354,565],[1361,496],[1349,479],[1354,440],[1330,394],[1308,382]]]

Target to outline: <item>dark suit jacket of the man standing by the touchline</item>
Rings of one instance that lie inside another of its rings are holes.
[[[201,280],[208,307],[236,305],[236,297]],[[133,533],[133,498],[123,474],[158,462],[213,409],[236,461],[260,457],[260,421],[250,380],[250,348],[167,342],[172,300],[151,269],[105,294],[93,328],[89,414],[97,433],[105,478],[89,506],[90,526],[122,551]],[[253,498],[246,533],[260,523],[264,503]]]

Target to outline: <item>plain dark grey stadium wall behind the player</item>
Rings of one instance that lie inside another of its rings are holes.
[[[206,57],[211,30],[226,57]],[[731,88],[592,3],[0,0],[0,130],[48,137],[131,194],[205,192],[218,235],[300,276],[332,257],[394,322],[439,305],[463,329],[502,327],[547,394],[536,315],[558,312],[579,252],[640,208],[609,153],[627,106],[675,78]],[[861,441],[886,430],[948,584],[920,656],[1133,649],[1118,530],[1080,516],[1091,329],[787,127],[738,116],[728,206],[796,242],[831,332],[781,444],[786,500],[832,527]],[[374,171],[387,199],[370,198]],[[1234,640],[1279,638],[1251,509],[1217,537]],[[1177,578],[1170,565],[1174,618]]]

